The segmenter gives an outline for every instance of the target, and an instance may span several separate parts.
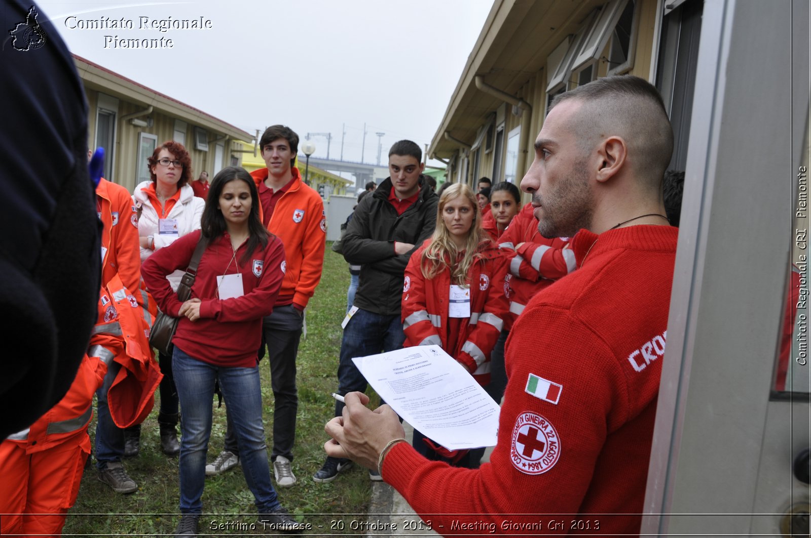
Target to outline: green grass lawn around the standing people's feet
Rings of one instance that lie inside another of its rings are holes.
[[[324,254],[324,274],[307,309],[307,337],[302,338],[298,349],[298,421],[293,462],[298,482],[291,488],[277,488],[282,505],[297,515],[299,520],[313,524],[314,530],[307,534],[341,533],[330,530],[329,523],[339,515],[366,514],[371,496],[368,473],[358,466],[341,473],[337,480],[329,484],[318,484],[311,478],[324,462],[324,442],[328,439],[324,433],[324,423],[333,416],[335,402],[330,392],[337,388],[341,320],[346,309],[349,280],[345,261],[330,250],[328,244]],[[269,455],[269,447],[272,446],[273,395],[267,359],[260,364],[260,373]],[[138,491],[130,495],[113,493],[97,479],[94,465],[84,473],[79,497],[63,530],[65,535],[174,536],[179,519],[178,459],[163,455],[160,450],[157,392],[155,397],[155,407],[142,427],[140,454],[124,460],[127,472],[138,483]],[[209,462],[222,449],[225,435],[225,406],[217,408],[215,397],[213,407]],[[90,432],[92,438],[95,421]],[[276,486],[275,480],[273,485]],[[260,524],[255,525],[254,531],[213,530],[210,527],[213,519],[220,523],[255,523],[253,495],[245,483],[241,468],[206,479],[203,510],[204,516],[200,519],[202,534],[266,534]],[[357,531],[347,527],[343,533]]]

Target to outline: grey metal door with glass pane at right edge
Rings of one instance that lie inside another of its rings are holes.
[[[792,227],[809,168],[808,19],[807,1],[703,2],[642,534],[808,536],[809,314],[787,300],[792,262],[798,297],[809,289]]]

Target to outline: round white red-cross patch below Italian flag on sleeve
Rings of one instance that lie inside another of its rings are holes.
[[[553,425],[537,413],[518,415],[510,444],[513,467],[527,475],[540,475],[560,458],[560,438]]]

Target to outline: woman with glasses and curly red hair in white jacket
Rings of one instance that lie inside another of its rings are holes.
[[[181,143],[170,141],[156,147],[148,163],[151,179],[139,183],[132,194],[138,212],[141,263],[155,251],[171,245],[187,233],[199,230],[205,207],[204,199],[196,198],[189,185],[191,157]],[[184,270],[178,269],[166,277],[174,291],[178,289]],[[180,452],[178,391],[172,376],[172,357],[159,353],[158,363],[164,376],[159,388],[161,409],[157,416],[161,428],[161,450],[166,455],[177,455]],[[137,455],[139,446],[140,425],[127,429],[124,455]]]

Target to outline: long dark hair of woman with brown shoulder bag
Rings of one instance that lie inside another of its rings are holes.
[[[208,196],[205,200],[203,217],[200,219],[200,228],[208,245],[211,245],[212,242],[216,241],[217,238],[225,233],[225,217],[222,216],[222,211],[220,211],[220,195],[225,185],[237,180],[245,181],[248,190],[251,191],[251,212],[248,213],[249,236],[247,250],[239,260],[240,263],[247,263],[248,258],[251,257],[251,254],[254,253],[257,247],[264,250],[264,247],[268,246],[268,238],[271,237],[271,235],[259,218],[259,190],[256,189],[256,183],[253,181],[251,174],[247,173],[246,169],[238,166],[229,166],[221,169],[217,175],[214,176],[208,190]]]

